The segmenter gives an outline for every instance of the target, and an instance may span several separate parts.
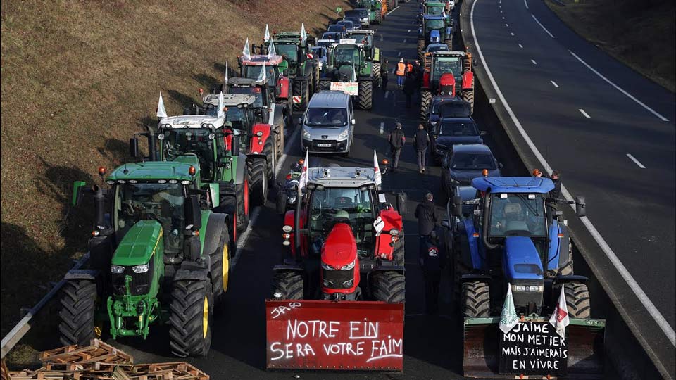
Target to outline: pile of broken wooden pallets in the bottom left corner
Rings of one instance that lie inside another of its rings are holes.
[[[2,380],[209,380],[187,362],[134,365],[131,355],[98,339],[44,351],[40,361],[35,371],[8,371],[3,362]]]

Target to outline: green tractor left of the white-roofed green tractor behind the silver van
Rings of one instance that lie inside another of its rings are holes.
[[[280,64],[282,75],[292,82],[293,108],[305,110],[318,87],[320,69],[319,61],[312,55],[312,44],[305,27],[301,27],[301,32],[274,33],[271,41],[277,54],[284,58]],[[269,44],[265,43],[265,49],[269,49]]]

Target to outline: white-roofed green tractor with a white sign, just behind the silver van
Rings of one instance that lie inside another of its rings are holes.
[[[373,62],[365,53],[365,45],[353,39],[342,39],[333,46],[329,70],[323,70],[319,81],[320,90],[340,90],[358,99],[359,108],[373,107]]]

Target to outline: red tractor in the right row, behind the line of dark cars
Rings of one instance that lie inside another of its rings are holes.
[[[472,72],[472,55],[464,51],[434,51],[425,53],[423,59],[423,83],[420,86],[420,120],[427,120],[432,98],[441,94],[439,81],[444,75],[451,74],[455,82],[455,96],[470,103],[474,113],[474,72]],[[446,82],[448,83],[448,82]]]

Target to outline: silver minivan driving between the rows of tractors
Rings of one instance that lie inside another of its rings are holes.
[[[299,124],[303,151],[349,155],[355,120],[348,94],[343,91],[315,93]]]

